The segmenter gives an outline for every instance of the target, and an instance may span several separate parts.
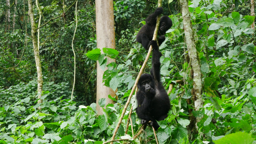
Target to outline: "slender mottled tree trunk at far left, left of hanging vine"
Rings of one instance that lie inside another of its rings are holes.
[[[31,36],[32,36],[32,43],[33,43],[35,62],[36,62],[36,70],[37,70],[37,93],[41,93],[43,91],[43,75],[42,75],[39,51],[38,51],[38,47],[37,47],[37,38],[35,35],[36,24],[35,24],[35,18],[34,18],[34,13],[33,13],[32,0],[28,0],[28,15],[30,17],[30,22],[31,22]],[[42,96],[42,94],[38,95],[38,98],[41,98],[41,96]],[[43,102],[42,99],[37,101],[37,103],[42,103],[42,102]],[[38,109],[40,110],[41,108],[39,107]]]

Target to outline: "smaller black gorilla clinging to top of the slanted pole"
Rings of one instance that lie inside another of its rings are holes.
[[[163,12],[163,8],[159,7],[156,11],[149,15],[146,19],[146,24],[140,29],[136,36],[137,42],[141,43],[142,46],[149,50],[149,42],[153,39],[154,31],[157,23],[157,16]],[[169,30],[173,25],[172,20],[168,16],[162,16],[160,19],[160,25],[158,29],[159,46],[165,41],[166,31]]]

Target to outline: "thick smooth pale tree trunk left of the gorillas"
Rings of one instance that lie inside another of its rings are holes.
[[[114,33],[114,11],[113,0],[95,0],[96,9],[96,35],[97,35],[97,48],[112,48],[115,49],[115,33]],[[114,59],[107,57],[107,64],[115,62]],[[105,67],[105,70],[107,67]],[[104,70],[104,71],[105,71]],[[96,110],[98,115],[103,114],[102,108],[98,105],[98,100],[106,98],[106,104],[114,103],[108,98],[110,94],[115,96],[115,92],[102,83],[102,76],[104,71],[99,67],[97,61],[97,96],[96,96]]]

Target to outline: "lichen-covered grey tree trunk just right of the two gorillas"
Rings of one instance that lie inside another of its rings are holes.
[[[188,3],[186,0],[180,0],[180,3],[182,5],[182,16],[183,16],[186,45],[188,48],[190,63],[191,63],[192,72],[193,72],[194,87],[192,89],[192,95],[194,98],[195,110],[198,111],[200,108],[203,107],[201,70],[200,70],[196,45],[193,39],[193,30],[191,26]],[[197,117],[197,122],[199,122],[201,119],[202,117]]]

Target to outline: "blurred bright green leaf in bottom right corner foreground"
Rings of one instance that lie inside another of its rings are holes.
[[[228,134],[221,139],[213,141],[215,144],[252,144],[254,138],[246,132]]]

